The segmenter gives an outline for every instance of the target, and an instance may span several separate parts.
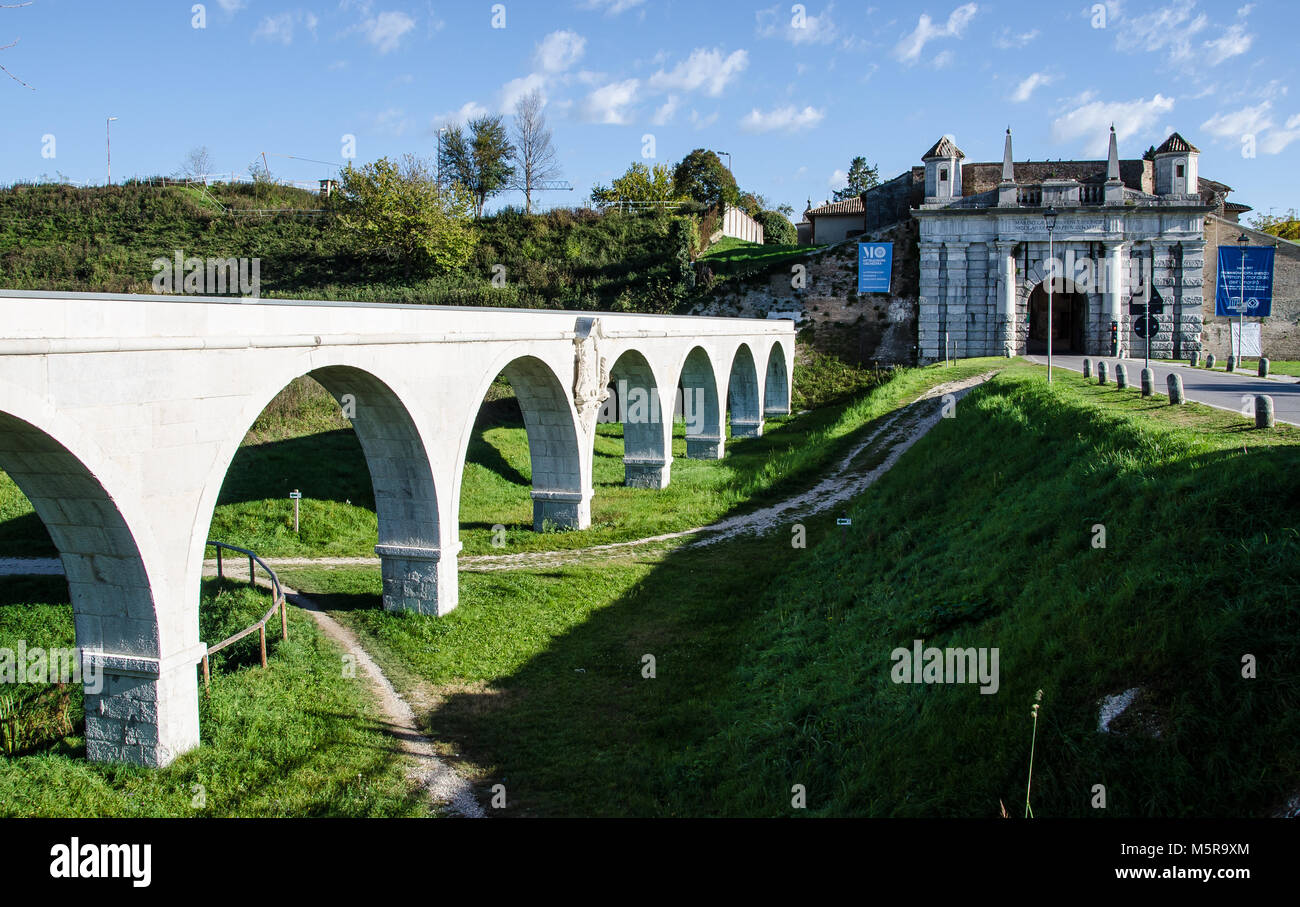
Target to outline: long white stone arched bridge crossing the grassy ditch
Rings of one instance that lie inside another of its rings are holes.
[[[664,487],[679,385],[688,456],[720,457],[728,412],[733,437],[789,412],[793,355],[784,321],[0,291],[0,469],[58,547],[83,664],[104,678],[86,695],[88,756],[162,765],[198,745],[208,528],[240,441],[294,378],[352,417],[385,608],[441,615],[498,374],[528,430],[534,526],[582,529],[608,385],[664,402],[624,415],[627,482]]]

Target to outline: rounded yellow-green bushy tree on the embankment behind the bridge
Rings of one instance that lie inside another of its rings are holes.
[[[428,161],[406,155],[343,168],[335,201],[338,225],[358,244],[413,268],[447,273],[474,249],[473,199],[460,186],[439,186]]]

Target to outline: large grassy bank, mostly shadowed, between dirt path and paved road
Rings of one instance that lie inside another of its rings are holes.
[[[802,784],[811,815],[1019,815],[1041,689],[1035,815],[1262,815],[1300,777],[1297,466],[1291,428],[1010,364],[854,502],[845,543],[828,515],[806,550],[463,574],[445,619],[380,611],[377,570],[290,581],[512,812],[777,816]],[[914,639],[998,648],[998,691],[893,683]]]

